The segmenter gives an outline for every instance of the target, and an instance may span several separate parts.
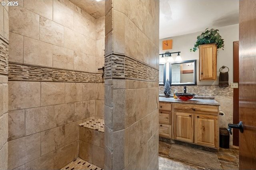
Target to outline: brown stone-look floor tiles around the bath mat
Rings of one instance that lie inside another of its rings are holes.
[[[174,160],[168,156],[172,143],[159,141],[159,170],[208,170],[208,168]],[[238,170],[239,150],[236,148],[222,149],[216,153],[223,170]]]

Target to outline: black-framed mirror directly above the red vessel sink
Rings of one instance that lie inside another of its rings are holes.
[[[171,86],[196,85],[196,60],[170,63]]]

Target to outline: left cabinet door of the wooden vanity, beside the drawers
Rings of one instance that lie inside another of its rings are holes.
[[[175,139],[193,142],[194,115],[190,113],[175,112]]]

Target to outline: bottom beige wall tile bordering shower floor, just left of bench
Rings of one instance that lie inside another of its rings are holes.
[[[60,169],[74,160],[74,143],[54,151],[54,169]]]

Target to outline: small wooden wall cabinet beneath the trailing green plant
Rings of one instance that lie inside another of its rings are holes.
[[[199,80],[216,80],[217,45],[204,44],[199,46]]]

